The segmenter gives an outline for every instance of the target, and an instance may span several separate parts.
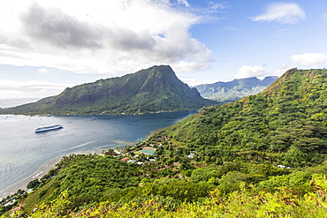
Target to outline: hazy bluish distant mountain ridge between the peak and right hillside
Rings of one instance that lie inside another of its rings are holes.
[[[253,77],[195,87],[203,98],[227,103],[237,101],[247,95],[258,94],[276,79],[278,79],[277,76],[265,77],[262,80]]]

